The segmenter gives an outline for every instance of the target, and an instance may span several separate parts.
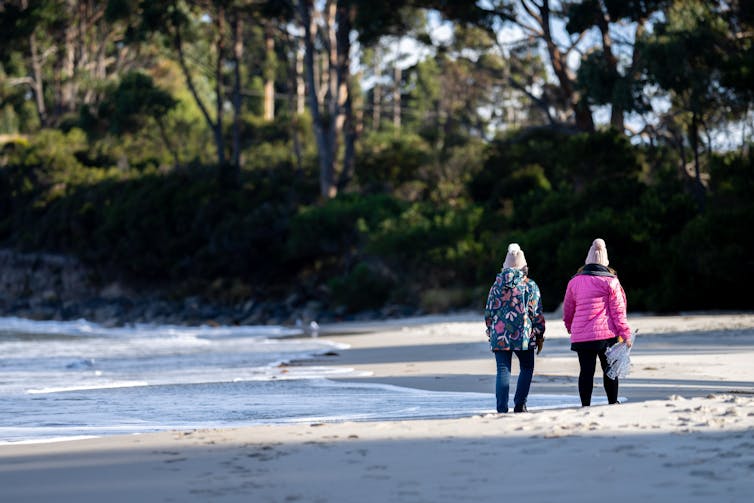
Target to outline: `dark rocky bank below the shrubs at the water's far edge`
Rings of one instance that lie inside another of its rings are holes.
[[[0,250],[0,316],[34,320],[86,319],[107,326],[127,323],[308,325],[311,321],[380,319],[415,314],[400,306],[344,316],[316,299],[297,293],[285,299],[244,299],[227,305],[169,292],[135,291],[121,283],[102,283],[73,257]]]

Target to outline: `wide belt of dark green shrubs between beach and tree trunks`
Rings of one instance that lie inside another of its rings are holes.
[[[115,150],[77,129],[14,144],[0,157],[0,241],[177,295],[238,302],[295,291],[345,312],[440,312],[480,309],[510,242],[553,310],[602,237],[633,311],[752,305],[748,155],[711,158],[701,208],[677,159],[612,132],[520,132],[493,143],[486,161],[478,144],[459,146],[443,167],[423,140],[390,133],[362,146],[360,192],[321,201],[311,152],[296,165],[289,130],[254,127],[266,141],[249,144],[254,160],[232,190],[218,187],[213,166],[166,170],[147,156],[139,169],[115,166]]]

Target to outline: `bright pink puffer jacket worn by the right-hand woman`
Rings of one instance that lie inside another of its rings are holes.
[[[615,276],[577,274],[568,282],[563,321],[571,342],[631,339],[626,321],[626,294]]]

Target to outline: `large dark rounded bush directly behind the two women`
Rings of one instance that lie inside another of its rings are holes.
[[[669,274],[662,257],[696,210],[675,175],[675,161],[650,168],[642,151],[614,132],[524,138],[494,145],[485,169],[491,173],[483,171],[472,182],[472,194],[486,202],[483,227],[501,231],[481,233],[491,251],[485,255],[488,274],[499,268],[507,244],[518,242],[545,308],[552,310],[591,241],[602,237],[632,309],[676,305],[657,295],[660,278]],[[525,176],[524,163],[535,159],[544,164],[528,165]]]

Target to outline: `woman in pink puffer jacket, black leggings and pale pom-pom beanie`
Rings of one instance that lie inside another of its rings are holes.
[[[607,401],[618,403],[618,379],[606,374],[605,350],[619,339],[629,347],[632,344],[626,321],[626,294],[608,263],[605,241],[595,239],[584,267],[568,282],[563,301],[563,321],[571,334],[571,350],[579,355],[579,397],[583,406],[592,402],[597,358]]]

